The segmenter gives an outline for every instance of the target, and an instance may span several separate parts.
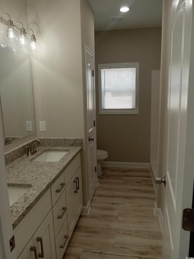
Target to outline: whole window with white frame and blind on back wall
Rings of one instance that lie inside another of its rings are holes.
[[[98,65],[99,114],[139,113],[139,62]]]

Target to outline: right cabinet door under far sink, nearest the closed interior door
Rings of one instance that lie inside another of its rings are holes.
[[[78,192],[74,193],[75,200],[75,220],[77,222],[79,215],[83,208],[83,194],[82,194],[82,169],[81,166],[75,174],[75,179],[77,180]]]

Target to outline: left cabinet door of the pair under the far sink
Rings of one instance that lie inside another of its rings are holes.
[[[75,181],[75,178],[73,177],[73,179],[69,182],[67,188],[65,189],[69,239],[73,233],[73,230],[76,224],[75,211],[74,211],[74,208],[75,208],[74,191],[76,191],[76,184],[74,181]]]

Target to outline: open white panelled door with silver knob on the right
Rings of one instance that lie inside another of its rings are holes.
[[[182,229],[182,210],[192,207],[194,175],[193,1],[164,1],[168,4],[169,34],[162,258],[182,259],[188,257],[190,236]]]

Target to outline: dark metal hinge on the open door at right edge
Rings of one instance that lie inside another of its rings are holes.
[[[182,213],[182,228],[186,231],[194,231],[194,209],[184,209]]]

